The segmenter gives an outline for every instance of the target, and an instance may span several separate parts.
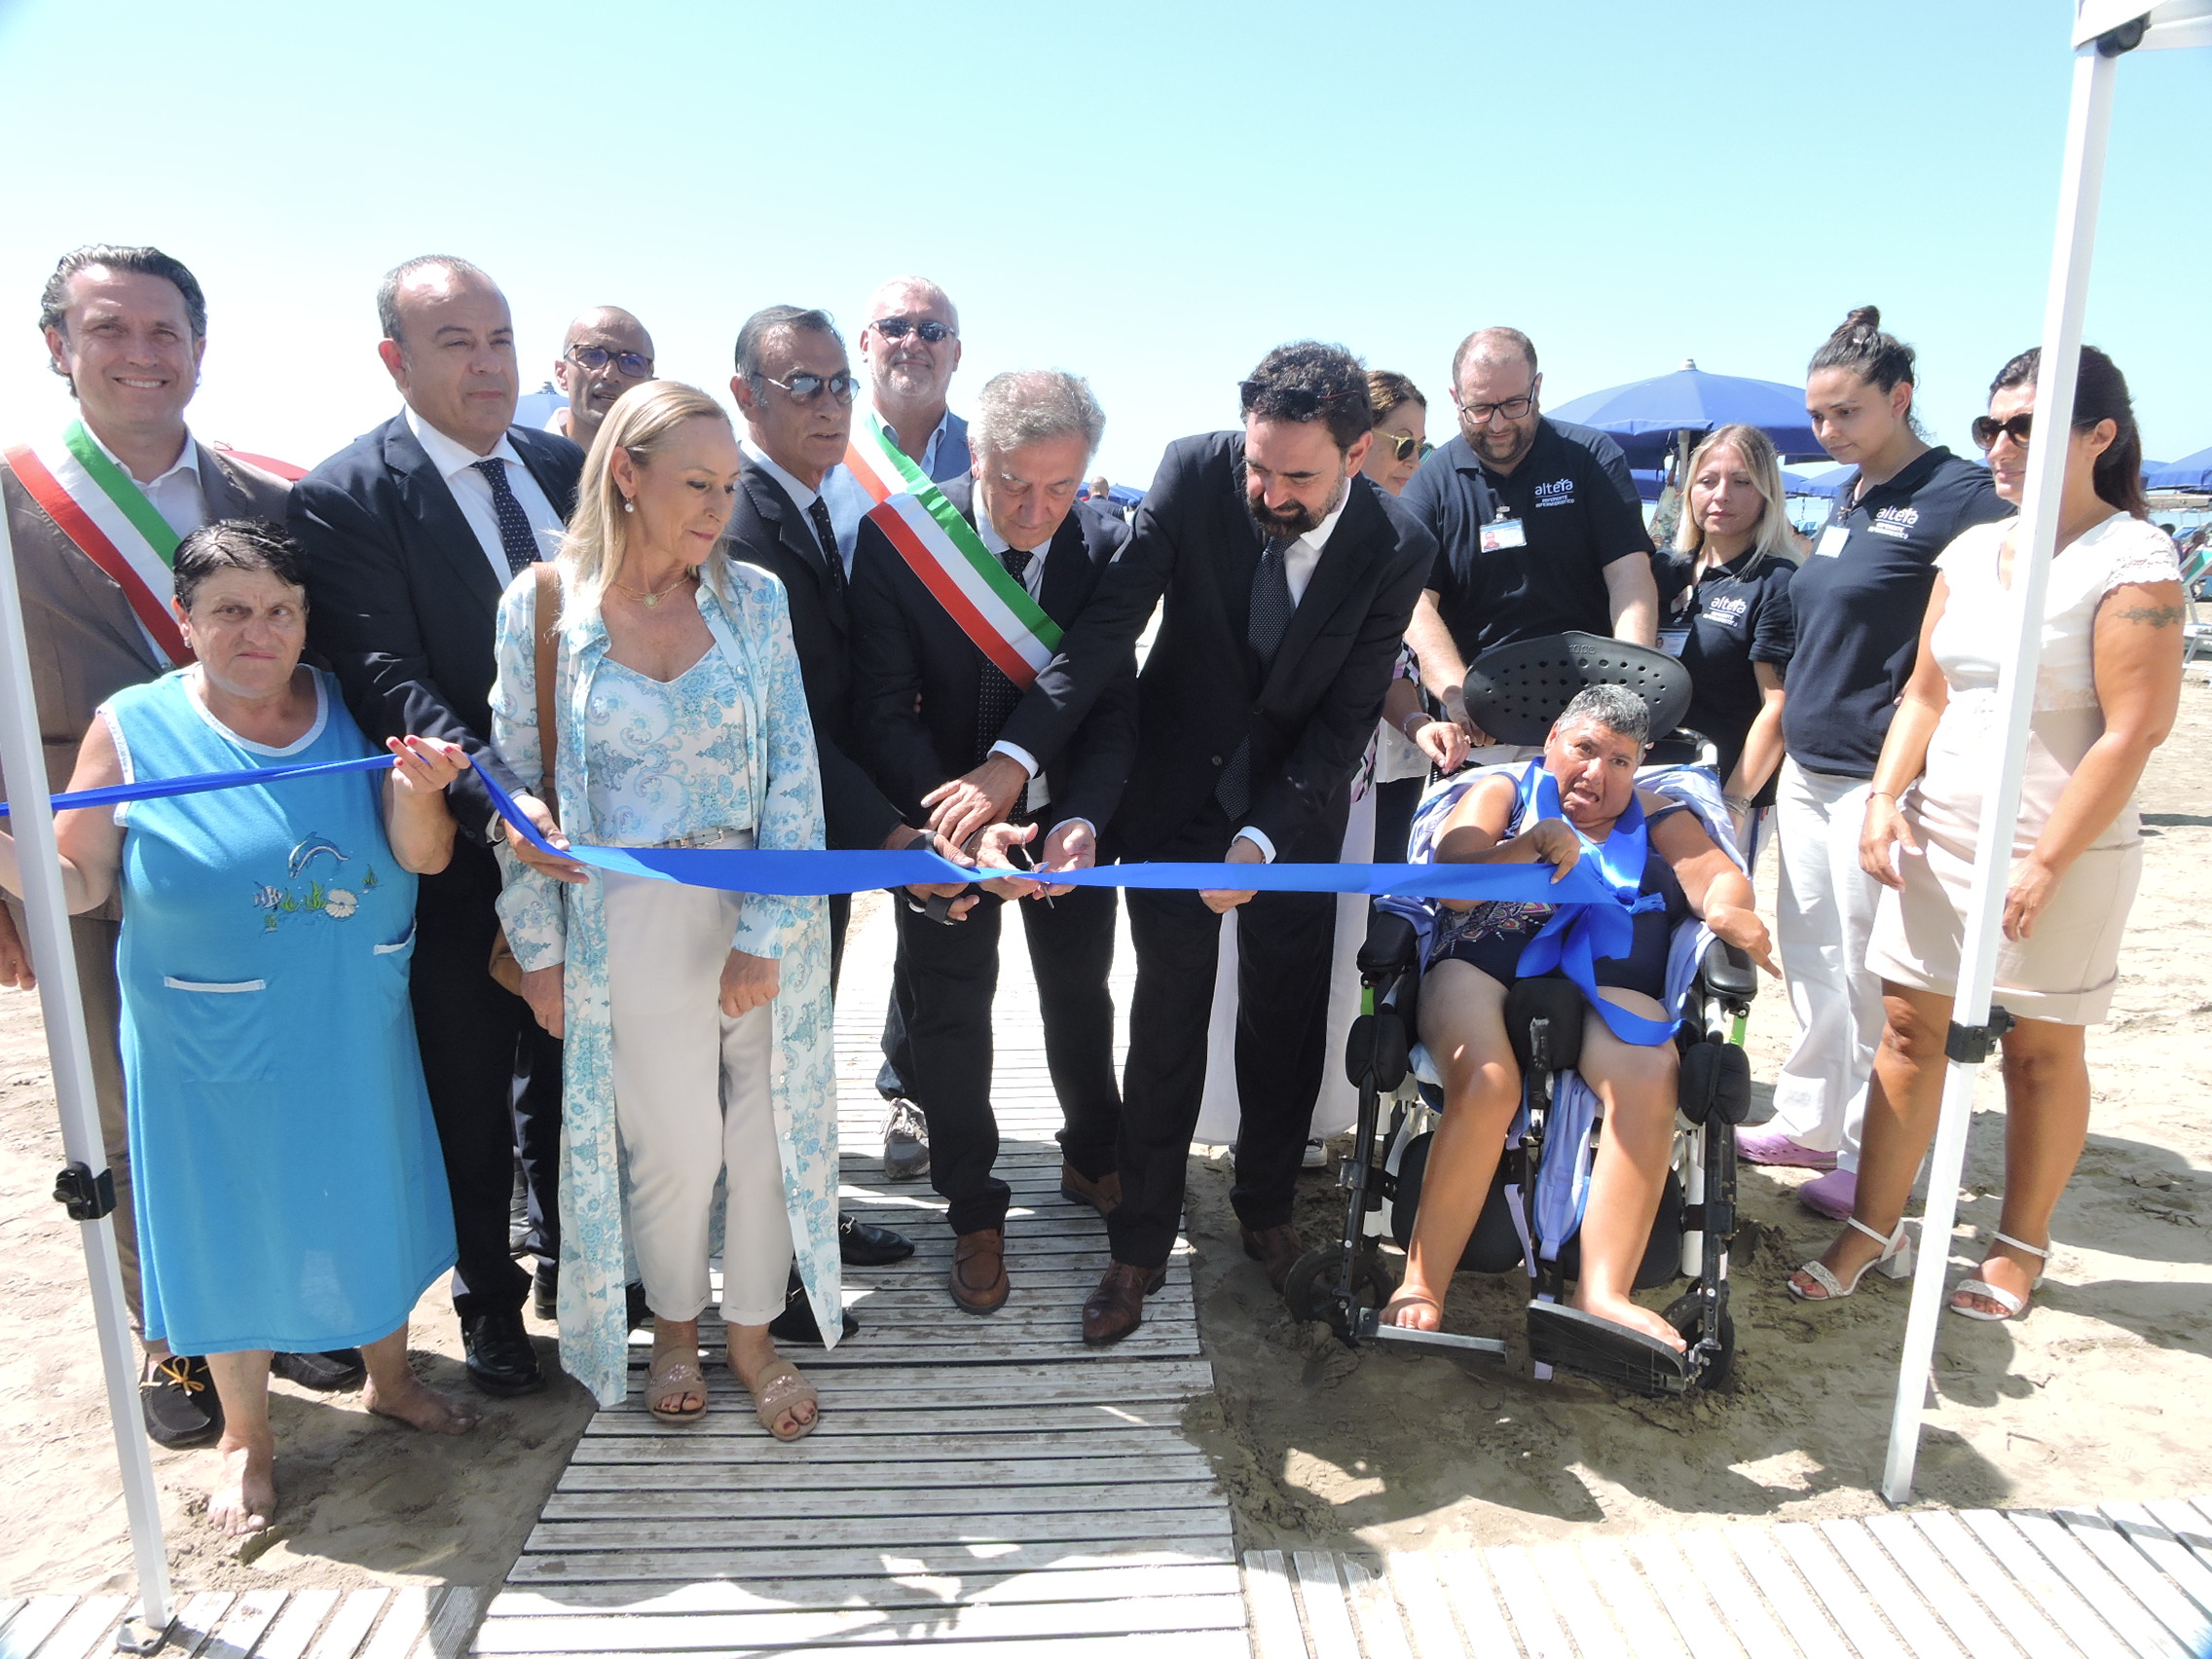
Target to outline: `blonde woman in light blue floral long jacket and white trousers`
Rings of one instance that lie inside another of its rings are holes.
[[[737,473],[730,418],[672,380],[626,392],[584,460],[549,619],[551,770],[575,843],[823,845],[783,586],[721,551]],[[540,776],[544,745],[535,617],[524,573],[500,602],[491,692],[493,743],[522,779]],[[796,1254],[816,1323],[832,1340],[841,1325],[823,900],[509,860],[500,918],[531,1009],[566,1044],[562,1365],[602,1405],[624,1396],[628,1250],[655,1323],[646,1407],[706,1411],[699,1314],[726,1183],[730,1371],[761,1427],[810,1433],[814,1389],[768,1323]]]

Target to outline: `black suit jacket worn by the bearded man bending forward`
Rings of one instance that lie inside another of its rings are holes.
[[[1166,597],[1139,677],[1137,763],[1117,818],[1130,856],[1157,856],[1199,818],[1221,768],[1250,739],[1243,823],[1283,860],[1336,858],[1352,770],[1436,562],[1436,540],[1396,500],[1360,476],[1347,489],[1261,679],[1245,624],[1265,544],[1245,511],[1243,434],[1183,438],[1161,458],[1135,535],[1002,732],[1051,765]]]

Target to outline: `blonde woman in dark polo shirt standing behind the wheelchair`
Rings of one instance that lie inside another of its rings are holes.
[[[1690,451],[1674,549],[1652,560],[1659,639],[1690,670],[1683,723],[1721,750],[1721,794],[1745,854],[1783,763],[1783,668],[1796,648],[1796,542],[1783,467],[1759,427],[1719,427]]]

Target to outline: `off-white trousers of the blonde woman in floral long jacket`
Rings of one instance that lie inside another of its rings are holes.
[[[723,845],[752,845],[732,836]],[[706,1310],[714,1181],[723,1206],[721,1316],[783,1312],[792,1219],[770,1099],[774,1004],[730,1020],[721,969],[741,894],[602,872],[615,1124],[630,1166],[630,1248],[659,1318]]]

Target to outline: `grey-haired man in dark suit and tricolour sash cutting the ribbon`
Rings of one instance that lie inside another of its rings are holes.
[[[1000,374],[984,385],[969,425],[973,476],[942,484],[975,531],[980,553],[998,560],[1062,630],[1075,624],[1128,542],[1126,524],[1075,500],[1104,429],[1097,398],[1073,374]],[[1020,701],[1018,684],[998,666],[1006,659],[1006,633],[991,639],[969,633],[984,624],[958,622],[916,568],[914,560],[929,560],[931,549],[940,557],[967,557],[949,538],[925,542],[916,529],[922,520],[927,515],[902,515],[898,500],[885,502],[860,522],[852,562],[863,757],[891,801],[916,821],[927,816],[925,796],[993,752]],[[1015,615],[1013,628],[1024,626]],[[1035,633],[1026,637],[1033,661],[1044,646]],[[1024,825],[1022,841],[1035,841],[1040,867],[1095,863],[1097,830],[1119,805],[1135,748],[1137,661],[1124,650],[1119,670],[1051,772],[1037,774],[1011,807]],[[951,925],[940,925],[920,905],[898,909],[900,1077],[929,1121],[929,1179],[951,1206],[947,1219],[958,1241],[951,1294],[971,1314],[995,1312],[1009,1292],[1011,1188],[991,1175],[998,1159],[991,1000],[1004,898],[1031,900],[1020,907],[1022,925],[1044,1015],[1044,1057],[1066,1117],[1062,1192],[1102,1214],[1119,1201],[1113,1159],[1121,1099],[1106,989],[1115,896],[1110,887],[1055,887],[1046,907],[1040,902],[1044,891],[1029,883],[993,883],[967,920]]]

